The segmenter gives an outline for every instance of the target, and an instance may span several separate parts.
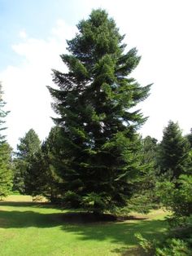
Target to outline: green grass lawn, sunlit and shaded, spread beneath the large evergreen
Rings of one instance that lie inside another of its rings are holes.
[[[108,256],[136,255],[134,233],[162,237],[166,213],[155,210],[146,219],[123,222],[68,222],[66,211],[34,203],[30,196],[9,196],[0,202],[1,256]],[[129,252],[128,252],[129,250]]]

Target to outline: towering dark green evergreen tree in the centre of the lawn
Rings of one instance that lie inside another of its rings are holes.
[[[54,70],[59,89],[49,87],[62,127],[63,194],[72,206],[114,209],[127,204],[142,169],[137,129],[146,118],[133,107],[150,86],[130,77],[140,57],[135,48],[124,52],[124,36],[106,11],[92,11],[77,29],[61,55],[68,73]]]

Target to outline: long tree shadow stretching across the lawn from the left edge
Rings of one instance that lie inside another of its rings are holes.
[[[2,205],[2,203],[0,204]],[[8,204],[7,204],[8,205]],[[10,205],[10,202],[9,202]],[[22,206],[24,207],[25,204]],[[20,207],[20,206],[19,206]],[[20,209],[20,208],[19,208]],[[137,246],[135,233],[140,232],[146,239],[159,239],[164,235],[164,220],[126,220],[126,221],[95,221],[89,215],[81,213],[38,213],[36,211],[0,210],[0,227],[2,228],[48,228],[59,227],[63,232],[70,232],[79,241],[110,241],[117,246],[113,252],[126,254],[128,248]],[[93,215],[92,215],[93,216]]]

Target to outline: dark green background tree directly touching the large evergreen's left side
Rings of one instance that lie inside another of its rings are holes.
[[[30,157],[25,178],[26,192],[32,196],[42,195],[51,202],[59,202],[62,180],[55,169],[59,166],[59,127],[50,130],[41,148]]]

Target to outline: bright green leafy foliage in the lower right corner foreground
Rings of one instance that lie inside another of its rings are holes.
[[[168,223],[170,230],[165,241],[147,241],[142,235],[137,239],[147,255],[185,256],[192,253],[192,177],[182,174],[175,182],[157,183],[157,196],[172,212]]]

